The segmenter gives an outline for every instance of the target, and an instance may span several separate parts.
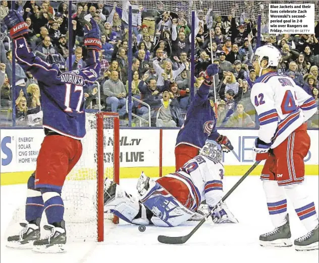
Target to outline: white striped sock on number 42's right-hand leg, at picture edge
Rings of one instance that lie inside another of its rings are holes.
[[[286,193],[292,201],[294,209],[307,231],[318,225],[318,217],[313,201],[307,194],[304,182],[285,186]]]

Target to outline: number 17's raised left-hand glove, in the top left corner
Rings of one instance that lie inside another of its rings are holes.
[[[10,36],[14,39],[29,32],[29,27],[22,16],[15,10],[9,10],[4,22],[10,30]]]

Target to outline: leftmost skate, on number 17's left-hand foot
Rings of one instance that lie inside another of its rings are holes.
[[[23,229],[19,235],[9,236],[7,247],[18,249],[31,249],[33,248],[33,242],[40,238],[40,221],[41,218],[37,218],[35,224],[20,223]]]

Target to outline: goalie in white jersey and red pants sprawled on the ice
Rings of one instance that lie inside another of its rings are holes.
[[[105,180],[104,211],[110,211],[126,222],[137,225],[174,227],[187,220],[201,219],[196,213],[206,200],[208,209],[216,206],[224,196],[224,166],[222,150],[212,143],[200,150],[178,172],[168,174],[156,181],[141,174],[137,190],[138,199],[126,193],[120,185]],[[207,211],[208,212],[208,211]],[[238,223],[225,203],[212,214],[218,223]]]

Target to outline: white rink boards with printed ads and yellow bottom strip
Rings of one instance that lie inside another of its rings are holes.
[[[120,130],[120,178],[136,178],[141,171],[151,177],[173,172],[174,148],[178,129],[121,129]],[[251,148],[258,130],[221,129],[234,146],[234,151],[224,155],[226,175],[242,175],[252,165]],[[305,158],[306,175],[318,175],[318,130],[308,130],[311,147]],[[25,183],[36,166],[36,158],[43,141],[40,128],[2,129],[1,133],[1,185]],[[108,157],[109,138],[104,138]],[[162,150],[162,155],[160,154]],[[84,149],[85,151],[85,149]],[[86,153],[93,155],[93,152]],[[163,156],[161,158],[161,156]],[[105,158],[108,162],[108,158]],[[108,165],[108,164],[106,164]],[[90,172],[94,163],[81,167],[81,174]],[[260,175],[259,165],[253,175]],[[84,176],[85,177],[85,176]]]

